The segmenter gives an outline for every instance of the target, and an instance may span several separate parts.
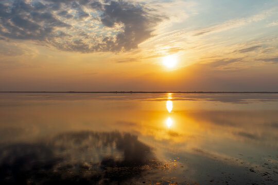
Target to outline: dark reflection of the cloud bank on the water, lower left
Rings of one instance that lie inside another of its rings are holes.
[[[120,184],[157,165],[150,147],[128,133],[66,133],[0,149],[1,184]]]

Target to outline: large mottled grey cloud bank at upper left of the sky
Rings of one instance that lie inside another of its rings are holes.
[[[0,36],[60,50],[124,51],[149,39],[163,16],[125,1],[14,0],[0,3]],[[80,33],[86,34],[80,34]],[[67,35],[61,39],[60,33]]]

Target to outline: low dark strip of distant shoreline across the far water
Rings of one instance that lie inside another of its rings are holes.
[[[111,93],[111,94],[135,94],[135,93],[182,93],[182,94],[278,94],[269,91],[0,91],[0,93]]]

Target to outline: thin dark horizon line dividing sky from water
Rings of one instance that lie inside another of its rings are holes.
[[[0,93],[241,93],[278,94],[278,91],[0,91]]]

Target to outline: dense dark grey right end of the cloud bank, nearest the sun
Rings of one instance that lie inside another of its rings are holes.
[[[123,1],[111,1],[104,6],[101,22],[107,27],[116,23],[125,25],[124,31],[117,34],[116,40],[106,39],[106,50],[119,51],[137,48],[137,45],[151,37],[152,27],[161,21],[159,17],[148,17],[142,6],[135,6]]]

